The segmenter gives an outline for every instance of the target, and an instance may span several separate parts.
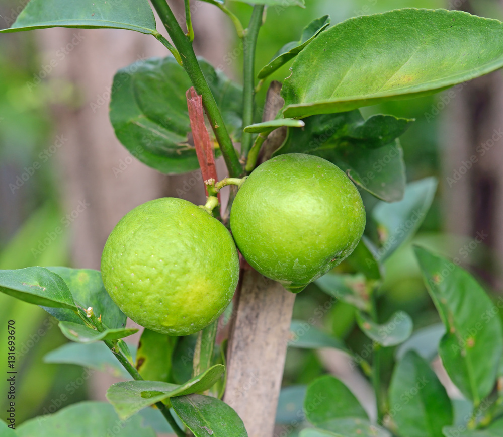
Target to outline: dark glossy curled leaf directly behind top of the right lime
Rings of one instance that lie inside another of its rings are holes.
[[[387,202],[401,200],[405,190],[403,152],[397,138],[411,120],[360,111],[307,117],[305,127],[289,129],[275,155],[306,153],[333,162],[361,188]]]

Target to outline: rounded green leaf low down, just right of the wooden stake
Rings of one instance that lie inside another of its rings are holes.
[[[349,417],[368,420],[367,413],[353,393],[341,381],[329,375],[309,384],[304,411],[307,420],[315,426],[328,420]]]

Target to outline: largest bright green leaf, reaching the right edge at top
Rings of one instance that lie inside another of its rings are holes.
[[[420,97],[502,66],[497,20],[443,9],[364,15],[322,32],[297,55],[281,90],[284,114],[301,118]]]

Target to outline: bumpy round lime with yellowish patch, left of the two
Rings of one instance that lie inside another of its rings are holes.
[[[108,237],[101,259],[105,289],[136,323],[189,335],[215,321],[239,278],[239,258],[225,226],[182,199],[146,202]]]

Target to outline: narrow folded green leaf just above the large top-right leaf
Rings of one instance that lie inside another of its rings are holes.
[[[286,64],[290,59],[297,56],[320,32],[325,30],[330,24],[330,16],[316,18],[311,21],[302,31],[302,36],[299,41],[291,41],[281,47],[273,56],[271,61],[259,72],[259,79],[265,79],[270,74],[274,73],[282,65]]]

